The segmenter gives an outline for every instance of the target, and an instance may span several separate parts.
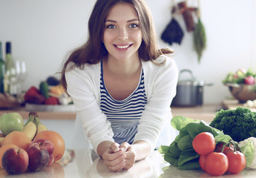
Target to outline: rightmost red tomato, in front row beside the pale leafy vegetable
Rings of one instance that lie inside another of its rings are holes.
[[[246,167],[246,156],[244,156],[240,151],[228,152],[226,153],[226,156],[229,159],[229,173],[240,173]]]

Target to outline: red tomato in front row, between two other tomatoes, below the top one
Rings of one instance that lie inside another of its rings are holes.
[[[206,159],[206,172],[214,176],[221,176],[229,168],[228,157],[223,153],[212,152]]]

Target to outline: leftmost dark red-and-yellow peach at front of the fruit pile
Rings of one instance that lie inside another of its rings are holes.
[[[22,148],[9,148],[4,152],[2,164],[4,171],[9,174],[21,174],[27,170],[29,157],[26,151]]]

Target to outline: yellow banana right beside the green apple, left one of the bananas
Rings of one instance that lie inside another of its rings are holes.
[[[31,140],[33,140],[33,138],[36,135],[36,124],[34,123],[35,117],[32,113],[33,112],[29,113],[29,118],[27,119],[27,122],[24,124],[24,128],[22,130],[22,132],[26,133]]]

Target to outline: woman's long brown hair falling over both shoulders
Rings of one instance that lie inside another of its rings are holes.
[[[142,30],[142,44],[139,48],[139,57],[144,61],[154,61],[161,54],[173,53],[170,49],[159,49],[157,33],[154,28],[153,18],[148,5],[144,0],[97,0],[88,21],[88,40],[81,47],[73,52],[65,61],[61,70],[62,85],[67,88],[65,72],[70,62],[75,65],[72,67],[85,67],[85,64],[97,64],[104,57],[108,56],[108,50],[102,42],[105,29],[105,19],[108,12],[117,3],[128,3],[137,11]]]

